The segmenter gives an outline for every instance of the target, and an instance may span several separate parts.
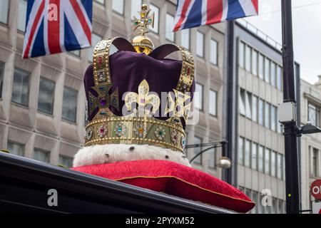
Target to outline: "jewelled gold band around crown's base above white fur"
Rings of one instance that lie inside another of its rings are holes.
[[[174,123],[153,117],[101,118],[86,126],[85,146],[103,144],[148,144],[183,152],[185,132]]]

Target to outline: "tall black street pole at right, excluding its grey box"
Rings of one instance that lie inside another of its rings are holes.
[[[295,100],[295,74],[292,39],[291,0],[282,0],[282,59],[283,59],[283,102]],[[300,191],[297,154],[296,120],[284,124],[285,138],[285,188],[287,214],[299,214]]]

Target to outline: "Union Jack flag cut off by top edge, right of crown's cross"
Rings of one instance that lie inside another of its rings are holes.
[[[174,31],[258,15],[258,0],[178,0]]]

